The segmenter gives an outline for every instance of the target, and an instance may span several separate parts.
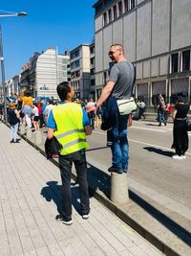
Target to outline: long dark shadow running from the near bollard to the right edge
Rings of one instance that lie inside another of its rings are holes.
[[[191,233],[185,228],[181,227],[175,221],[172,221],[166,215],[162,214],[159,210],[153,207],[150,203],[146,202],[144,199],[140,198],[136,193],[129,191],[129,197],[134,200],[138,205],[147,211],[151,216],[158,220],[161,224],[167,227],[171,232],[180,238],[185,244],[191,246]]]

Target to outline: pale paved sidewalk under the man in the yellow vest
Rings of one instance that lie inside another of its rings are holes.
[[[0,255],[162,255],[120,221],[96,198],[91,217],[78,214],[73,187],[74,224],[54,221],[60,205],[60,175],[51,161],[21,139],[10,143],[10,129],[0,123]]]

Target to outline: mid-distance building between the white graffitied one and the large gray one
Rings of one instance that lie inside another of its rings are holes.
[[[93,45],[92,48],[90,48],[90,44],[81,44],[70,52],[71,83],[74,86],[75,97],[79,99],[89,99],[93,97],[91,91],[91,76],[94,75],[91,75],[91,70],[93,69],[91,59],[94,58],[94,52],[90,52],[90,49],[93,48]],[[90,58],[90,56],[92,58]]]

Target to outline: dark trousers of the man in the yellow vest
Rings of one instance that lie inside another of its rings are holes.
[[[77,182],[79,183],[81,215],[88,214],[90,211],[85,151],[76,151],[67,155],[60,155],[59,168],[62,180],[61,214],[66,220],[72,219],[71,173],[73,163],[77,174]]]

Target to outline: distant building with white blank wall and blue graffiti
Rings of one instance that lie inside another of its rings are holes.
[[[21,90],[30,89],[33,97],[58,98],[56,86],[70,80],[69,55],[56,53],[53,48],[42,54],[34,53],[21,73]]]

